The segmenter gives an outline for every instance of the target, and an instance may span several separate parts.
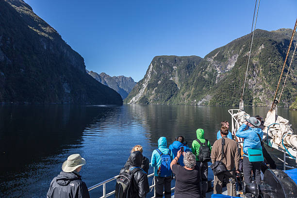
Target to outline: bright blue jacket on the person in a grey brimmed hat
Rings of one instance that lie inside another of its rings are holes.
[[[263,131],[260,128],[251,128],[251,127],[248,127],[248,129],[244,131],[246,127],[247,127],[246,124],[241,125],[236,132],[236,136],[245,138],[243,151],[244,151],[244,156],[248,157],[247,148],[262,148],[261,142],[257,133],[260,135],[261,139],[263,139]]]

